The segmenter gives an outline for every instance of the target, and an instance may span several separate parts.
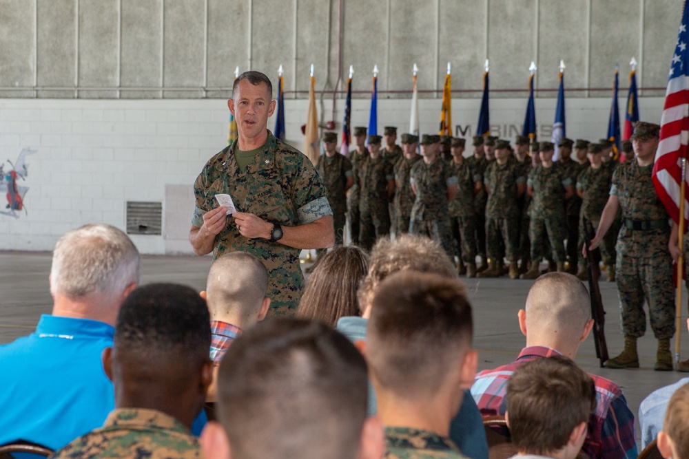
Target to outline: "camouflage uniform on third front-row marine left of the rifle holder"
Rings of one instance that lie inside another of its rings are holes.
[[[502,244],[507,258],[517,258],[517,184],[524,183],[522,168],[510,158],[505,164],[491,161],[484,176],[488,186],[486,204],[486,247],[492,260],[502,261]]]

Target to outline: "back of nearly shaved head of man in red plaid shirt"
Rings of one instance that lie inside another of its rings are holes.
[[[588,290],[573,275],[542,275],[528,291],[526,329],[529,332],[569,334],[569,339],[578,339],[590,317]]]

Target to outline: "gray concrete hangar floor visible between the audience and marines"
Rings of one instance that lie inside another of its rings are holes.
[[[142,282],[178,282],[203,290],[210,257],[145,256]],[[302,265],[305,266],[305,265]],[[48,290],[50,253],[0,252],[0,344],[29,334],[41,314],[50,313]],[[479,350],[479,370],[513,361],[524,346],[517,323],[517,311],[524,307],[528,288],[533,281],[502,279],[466,279],[474,308],[474,347]],[[601,282],[601,295],[606,308],[606,339],[610,356],[622,348],[619,328],[617,290],[614,283]],[[687,298],[686,291],[683,298]],[[686,301],[686,300],[685,300]],[[686,323],[683,322],[683,323]],[[681,359],[689,357],[689,337],[682,327]],[[623,390],[628,405],[637,414],[639,403],[658,387],[674,383],[686,374],[655,372],[656,341],[649,332],[639,339],[641,368],[608,370],[600,368],[595,357],[593,337],[579,349],[576,362],[587,372],[615,381]],[[672,350],[674,350],[674,341]],[[637,426],[637,438],[638,435]]]

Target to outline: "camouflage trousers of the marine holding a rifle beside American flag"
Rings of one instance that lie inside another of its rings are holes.
[[[622,317],[622,333],[643,337],[646,332],[644,301],[656,339],[675,335],[675,291],[672,261],[668,257],[617,257],[615,281]]]

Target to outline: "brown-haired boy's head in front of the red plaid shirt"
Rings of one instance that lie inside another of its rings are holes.
[[[596,407],[593,379],[570,359],[535,359],[507,382],[505,416],[515,459],[575,459]]]

